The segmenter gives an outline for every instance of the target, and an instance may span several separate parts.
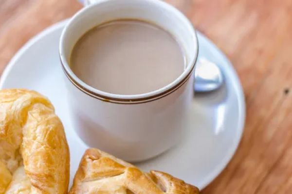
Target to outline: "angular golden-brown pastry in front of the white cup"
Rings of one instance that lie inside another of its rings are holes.
[[[91,148],[81,159],[69,194],[199,194],[199,190],[163,172],[144,173]]]

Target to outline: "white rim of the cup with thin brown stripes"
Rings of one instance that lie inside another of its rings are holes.
[[[67,76],[67,78],[73,83],[73,85],[75,87],[77,87],[77,89],[81,90],[85,94],[87,94],[91,97],[106,101],[106,102],[113,102],[113,103],[118,103],[118,104],[137,104],[137,103],[149,102],[149,101],[153,101],[153,100],[165,97],[165,96],[171,94],[172,92],[176,91],[177,89],[179,89],[189,79],[189,77],[193,73],[195,64],[197,62],[198,53],[199,53],[198,36],[197,36],[197,32],[196,32],[194,26],[192,25],[190,20],[186,16],[183,15],[183,13],[181,13],[178,9],[176,9],[172,5],[170,5],[164,1],[160,1],[160,0],[144,0],[144,1],[156,3],[158,6],[161,6],[164,9],[167,9],[170,12],[172,12],[173,14],[175,14],[181,20],[184,20],[184,22],[190,27],[189,28],[190,33],[192,33],[195,37],[196,49],[194,50],[194,52],[195,52],[194,57],[191,60],[189,60],[189,62],[187,62],[186,69],[183,71],[183,73],[178,78],[176,78],[174,81],[170,82],[166,86],[159,88],[157,90],[154,90],[154,91],[150,91],[150,92],[143,93],[143,94],[121,95],[121,94],[112,94],[109,92],[104,92],[102,90],[98,90],[96,88],[93,88],[92,86],[88,85],[84,81],[80,80],[73,73],[73,71],[70,68],[70,65],[67,62],[67,59],[65,57],[65,50],[63,47],[64,39],[65,39],[66,33],[68,31],[68,28],[76,18],[78,18],[80,15],[82,15],[88,9],[91,9],[91,7],[94,7],[94,6],[98,6],[100,3],[106,2],[106,1],[109,1],[109,0],[98,0],[97,3],[91,4],[89,6],[82,8],[72,18],[70,18],[69,22],[64,27],[62,34],[61,34],[61,37],[60,37],[59,56],[60,56],[60,61],[61,61],[63,71],[64,71],[65,75]]]

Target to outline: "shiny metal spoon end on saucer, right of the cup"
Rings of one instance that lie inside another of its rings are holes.
[[[200,58],[195,69],[195,92],[211,92],[223,84],[223,75],[218,65]]]

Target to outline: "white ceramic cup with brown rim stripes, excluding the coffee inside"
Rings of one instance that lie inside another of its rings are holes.
[[[60,59],[67,78],[74,129],[90,147],[97,147],[129,162],[155,157],[181,139],[193,98],[198,40],[190,21],[160,0],[90,0],[64,28]],[[121,19],[150,21],[173,34],[183,47],[187,66],[173,82],[139,95],[100,91],[76,77],[70,68],[71,51],[94,26]],[[74,150],[71,150],[74,151]]]

